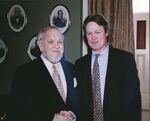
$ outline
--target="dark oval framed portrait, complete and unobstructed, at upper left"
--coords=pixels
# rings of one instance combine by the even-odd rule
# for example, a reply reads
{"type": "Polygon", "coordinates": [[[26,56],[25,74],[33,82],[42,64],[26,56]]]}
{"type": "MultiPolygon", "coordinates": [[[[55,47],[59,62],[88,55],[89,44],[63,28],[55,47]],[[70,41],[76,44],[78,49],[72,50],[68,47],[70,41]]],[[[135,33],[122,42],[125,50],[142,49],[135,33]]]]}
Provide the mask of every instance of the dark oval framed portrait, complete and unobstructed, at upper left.
{"type": "Polygon", "coordinates": [[[27,17],[23,7],[17,4],[10,8],[7,18],[8,24],[14,32],[20,32],[27,23],[27,17]]]}

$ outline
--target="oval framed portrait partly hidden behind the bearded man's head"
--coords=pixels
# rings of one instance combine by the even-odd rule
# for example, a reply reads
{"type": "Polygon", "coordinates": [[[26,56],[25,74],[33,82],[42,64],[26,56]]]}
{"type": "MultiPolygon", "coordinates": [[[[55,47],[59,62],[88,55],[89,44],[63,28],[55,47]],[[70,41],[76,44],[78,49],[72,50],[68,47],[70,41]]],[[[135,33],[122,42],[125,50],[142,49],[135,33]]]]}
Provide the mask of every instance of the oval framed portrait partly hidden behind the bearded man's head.
{"type": "Polygon", "coordinates": [[[28,45],[28,48],[27,48],[27,53],[28,53],[28,56],[31,60],[34,60],[36,59],[38,56],[40,56],[40,49],[37,45],[37,36],[34,36],[30,42],[29,42],[29,45],[28,45]]]}

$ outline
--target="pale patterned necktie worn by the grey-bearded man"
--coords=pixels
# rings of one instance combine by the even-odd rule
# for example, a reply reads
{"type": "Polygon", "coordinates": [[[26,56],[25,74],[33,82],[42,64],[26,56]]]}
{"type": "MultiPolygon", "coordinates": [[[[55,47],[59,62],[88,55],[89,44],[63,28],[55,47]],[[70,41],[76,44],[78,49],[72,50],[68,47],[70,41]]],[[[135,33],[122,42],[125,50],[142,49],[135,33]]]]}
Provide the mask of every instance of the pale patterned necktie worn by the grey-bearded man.
{"type": "Polygon", "coordinates": [[[62,99],[64,100],[64,102],[66,102],[66,99],[65,99],[65,92],[64,92],[64,89],[63,89],[63,85],[62,85],[62,82],[61,82],[61,79],[60,79],[60,75],[56,69],[56,66],[53,64],[53,79],[54,79],[54,83],[62,97],[62,99]]]}

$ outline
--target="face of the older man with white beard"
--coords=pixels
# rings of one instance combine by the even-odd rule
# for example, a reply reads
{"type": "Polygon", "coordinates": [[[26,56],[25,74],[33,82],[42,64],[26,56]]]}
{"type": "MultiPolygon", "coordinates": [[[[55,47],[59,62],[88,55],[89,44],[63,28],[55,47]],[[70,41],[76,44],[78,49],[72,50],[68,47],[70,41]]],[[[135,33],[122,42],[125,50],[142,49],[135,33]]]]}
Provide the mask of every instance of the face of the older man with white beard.
{"type": "Polygon", "coordinates": [[[42,40],[38,41],[42,55],[52,63],[60,61],[64,53],[64,43],[61,32],[49,29],[43,33],[42,40]]]}

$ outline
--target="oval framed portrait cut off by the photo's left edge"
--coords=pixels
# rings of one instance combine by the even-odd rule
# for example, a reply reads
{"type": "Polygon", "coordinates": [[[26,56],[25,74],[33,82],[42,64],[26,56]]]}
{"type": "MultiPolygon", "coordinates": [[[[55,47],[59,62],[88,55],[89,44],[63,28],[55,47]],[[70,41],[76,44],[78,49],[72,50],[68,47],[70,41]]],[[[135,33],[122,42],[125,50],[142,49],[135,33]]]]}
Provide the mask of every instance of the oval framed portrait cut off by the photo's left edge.
{"type": "Polygon", "coordinates": [[[8,48],[6,47],[3,40],[0,39],[0,63],[2,63],[5,60],[7,51],[8,51],[8,48]]]}

